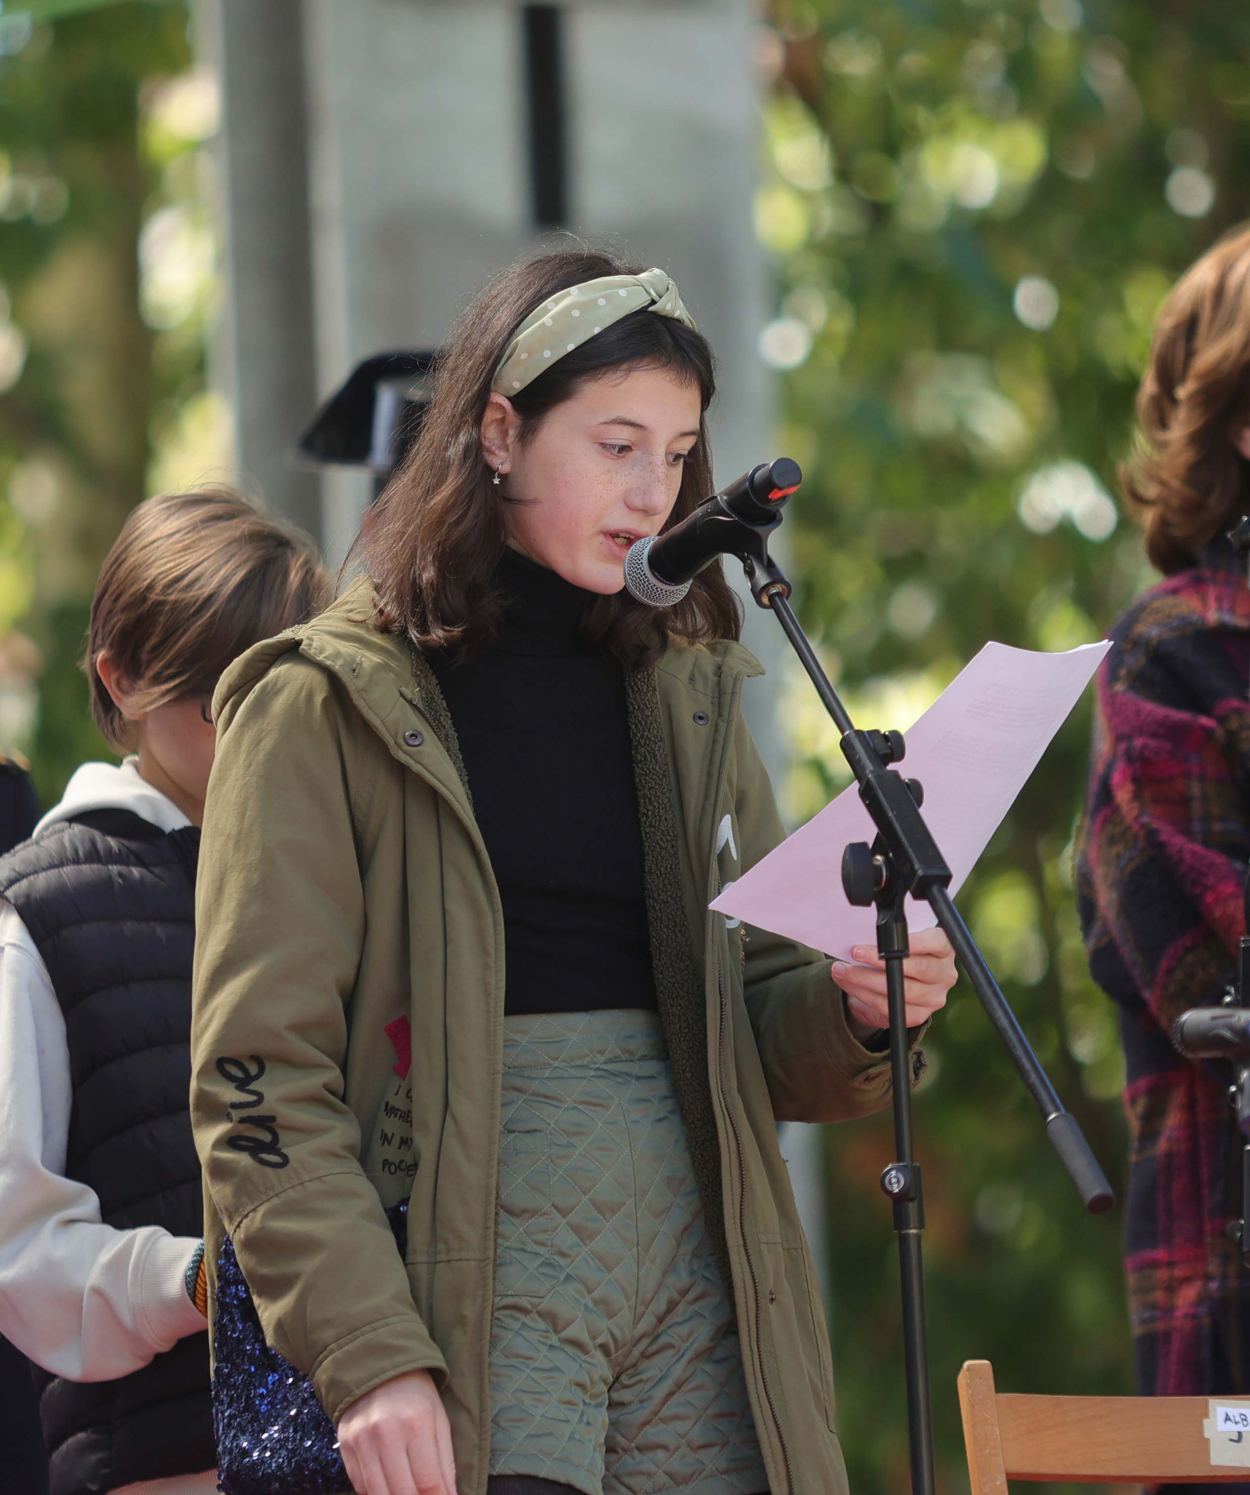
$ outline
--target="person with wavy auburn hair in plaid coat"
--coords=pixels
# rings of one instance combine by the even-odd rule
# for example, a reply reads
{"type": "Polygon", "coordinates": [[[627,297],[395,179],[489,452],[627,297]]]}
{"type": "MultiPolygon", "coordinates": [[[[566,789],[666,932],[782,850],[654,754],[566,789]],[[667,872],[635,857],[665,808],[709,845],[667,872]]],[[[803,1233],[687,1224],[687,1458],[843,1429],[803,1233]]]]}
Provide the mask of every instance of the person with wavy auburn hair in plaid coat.
{"type": "Polygon", "coordinates": [[[1250,510],[1250,232],[1163,305],[1123,469],[1163,580],[1115,623],[1080,855],[1090,969],[1118,1003],[1130,1129],[1126,1272],[1139,1389],[1250,1392],[1250,1271],[1228,1236],[1238,1139],[1225,1066],[1172,1021],[1219,1003],[1246,933],[1250,594],[1228,538],[1250,510]]]}

